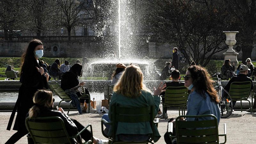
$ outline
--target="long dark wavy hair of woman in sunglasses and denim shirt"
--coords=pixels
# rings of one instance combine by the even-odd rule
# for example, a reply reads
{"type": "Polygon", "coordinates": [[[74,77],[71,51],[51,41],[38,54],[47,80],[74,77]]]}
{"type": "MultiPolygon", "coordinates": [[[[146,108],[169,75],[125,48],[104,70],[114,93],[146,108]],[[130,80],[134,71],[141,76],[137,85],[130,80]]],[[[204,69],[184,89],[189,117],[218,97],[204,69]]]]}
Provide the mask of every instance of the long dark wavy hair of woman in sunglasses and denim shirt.
{"type": "Polygon", "coordinates": [[[219,103],[217,92],[213,88],[209,73],[203,67],[196,65],[188,67],[188,71],[191,73],[195,91],[204,98],[206,97],[204,92],[207,92],[212,101],[219,103]]]}

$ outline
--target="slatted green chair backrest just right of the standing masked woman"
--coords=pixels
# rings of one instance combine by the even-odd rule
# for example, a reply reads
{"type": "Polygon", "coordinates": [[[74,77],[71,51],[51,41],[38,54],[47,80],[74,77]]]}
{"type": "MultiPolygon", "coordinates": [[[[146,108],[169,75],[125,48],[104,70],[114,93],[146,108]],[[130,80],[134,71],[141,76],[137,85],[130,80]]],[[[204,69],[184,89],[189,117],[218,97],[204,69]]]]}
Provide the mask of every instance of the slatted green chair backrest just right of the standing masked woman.
{"type": "Polygon", "coordinates": [[[55,92],[61,100],[69,101],[70,97],[60,88],[60,85],[57,82],[49,81],[48,82],[50,88],[53,92],[55,92]]]}

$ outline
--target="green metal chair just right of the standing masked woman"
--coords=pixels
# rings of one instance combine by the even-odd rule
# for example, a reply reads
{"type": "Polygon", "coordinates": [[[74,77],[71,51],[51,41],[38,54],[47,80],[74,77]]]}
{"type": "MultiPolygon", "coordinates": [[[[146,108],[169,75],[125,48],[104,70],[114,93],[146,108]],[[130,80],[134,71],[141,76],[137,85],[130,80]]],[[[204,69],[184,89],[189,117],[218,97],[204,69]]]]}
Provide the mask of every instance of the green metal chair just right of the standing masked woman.
{"type": "MultiPolygon", "coordinates": [[[[48,85],[49,85],[49,87],[52,89],[52,91],[55,92],[55,93],[60,97],[60,99],[61,99],[60,103],[61,103],[62,101],[65,101],[65,102],[70,102],[70,101],[72,101],[72,99],[71,99],[71,98],[69,97],[69,95],[66,93],[67,90],[66,90],[66,91],[63,91],[63,90],[60,88],[60,85],[59,85],[57,82],[55,82],[55,81],[49,81],[49,82],[48,82],[48,85]]],[[[81,87],[81,88],[83,89],[83,91],[84,91],[84,88],[83,88],[83,86],[81,86],[81,85],[77,85],[76,87],[73,87],[73,88],[69,89],[68,91],[76,90],[76,89],[78,89],[79,87],[81,87]]],[[[84,93],[85,93],[85,92],[84,92],[84,93]]],[[[90,97],[90,95],[88,95],[88,94],[83,94],[83,93],[81,93],[81,96],[78,97],[78,98],[85,98],[85,99],[89,99],[89,101],[91,101],[91,97],[90,97]]],[[[59,103],[58,107],[60,107],[60,103],[59,103]]],[[[69,110],[70,110],[70,106],[71,106],[71,102],[70,102],[70,105],[69,105],[69,107],[68,107],[68,113],[69,113],[69,110]]],[[[90,113],[90,102],[89,102],[89,110],[88,110],[88,113],[90,113]]]]}

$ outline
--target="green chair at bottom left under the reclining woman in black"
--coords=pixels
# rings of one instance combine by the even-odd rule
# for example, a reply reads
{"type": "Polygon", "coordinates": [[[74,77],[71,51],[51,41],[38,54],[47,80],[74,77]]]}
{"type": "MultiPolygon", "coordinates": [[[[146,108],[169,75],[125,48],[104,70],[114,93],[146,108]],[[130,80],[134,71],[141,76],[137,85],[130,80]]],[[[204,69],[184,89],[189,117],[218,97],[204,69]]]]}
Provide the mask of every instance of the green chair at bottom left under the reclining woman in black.
{"type": "Polygon", "coordinates": [[[29,132],[28,138],[32,138],[34,143],[70,143],[82,142],[80,134],[90,126],[91,140],[85,142],[92,144],[92,125],[88,124],[74,136],[69,136],[64,121],[59,116],[26,118],[26,128],[29,132]]]}

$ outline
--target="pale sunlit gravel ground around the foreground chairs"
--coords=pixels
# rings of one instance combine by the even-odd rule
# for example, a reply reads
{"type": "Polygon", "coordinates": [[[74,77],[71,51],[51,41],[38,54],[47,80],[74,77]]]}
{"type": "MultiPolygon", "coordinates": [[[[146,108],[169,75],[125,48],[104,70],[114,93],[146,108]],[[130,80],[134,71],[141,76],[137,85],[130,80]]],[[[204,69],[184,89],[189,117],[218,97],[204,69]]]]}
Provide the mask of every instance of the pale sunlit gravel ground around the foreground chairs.
{"type": "MultiPolygon", "coordinates": [[[[7,131],[7,123],[11,113],[10,112],[0,112],[0,144],[4,144],[13,133],[16,131],[7,131]]],[[[177,117],[179,115],[178,111],[168,111],[169,118],[177,117]]],[[[78,120],[80,123],[86,125],[91,123],[93,129],[93,135],[100,139],[106,139],[101,133],[100,120],[102,115],[92,113],[92,114],[83,114],[77,115],[76,111],[71,111],[69,116],[78,120]]],[[[223,125],[227,124],[227,143],[228,144],[250,144],[255,143],[255,128],[256,128],[256,113],[248,113],[246,111],[235,111],[229,118],[220,119],[219,124],[219,133],[224,133],[223,125]]],[[[161,134],[160,140],[156,144],[164,144],[163,135],[167,129],[167,121],[165,119],[160,119],[158,124],[158,131],[161,134]]],[[[224,139],[220,138],[220,142],[223,142],[224,139]]],[[[27,139],[24,136],[17,143],[26,144],[27,139]]]]}

